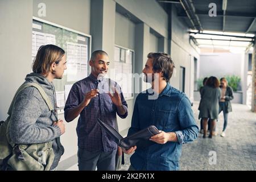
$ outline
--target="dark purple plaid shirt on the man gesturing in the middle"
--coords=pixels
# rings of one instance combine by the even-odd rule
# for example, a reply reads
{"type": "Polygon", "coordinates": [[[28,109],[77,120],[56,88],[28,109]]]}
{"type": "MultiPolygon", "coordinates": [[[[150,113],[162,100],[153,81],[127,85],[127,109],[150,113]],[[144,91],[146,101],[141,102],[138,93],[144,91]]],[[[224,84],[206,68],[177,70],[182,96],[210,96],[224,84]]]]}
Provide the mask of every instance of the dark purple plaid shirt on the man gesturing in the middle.
{"type": "Polygon", "coordinates": [[[96,119],[100,118],[109,126],[118,129],[117,116],[121,118],[127,117],[127,103],[123,97],[122,90],[117,82],[108,78],[102,77],[97,80],[92,74],[83,80],[77,81],[73,84],[71,91],[69,92],[67,102],[64,108],[64,115],[66,117],[67,111],[78,106],[85,97],[87,92],[92,89],[99,89],[98,96],[92,98],[89,104],[81,111],[79,121],[77,123],[76,132],[78,137],[78,146],[91,152],[104,151],[109,152],[117,148],[117,144],[113,138],[110,137],[104,129],[98,125],[96,119]],[[122,104],[126,109],[124,115],[117,113],[117,107],[113,104],[108,95],[110,85],[117,88],[121,95],[122,104]]]}

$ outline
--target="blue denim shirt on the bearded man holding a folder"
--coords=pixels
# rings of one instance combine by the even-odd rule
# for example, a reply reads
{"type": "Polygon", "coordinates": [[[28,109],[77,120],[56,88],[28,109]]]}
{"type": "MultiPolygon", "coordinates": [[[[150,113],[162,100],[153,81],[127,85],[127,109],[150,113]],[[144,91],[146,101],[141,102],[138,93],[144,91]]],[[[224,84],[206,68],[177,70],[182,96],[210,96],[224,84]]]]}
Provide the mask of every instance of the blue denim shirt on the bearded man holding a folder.
{"type": "Polygon", "coordinates": [[[164,132],[175,132],[178,142],[155,143],[135,150],[130,158],[131,166],[137,170],[178,170],[181,144],[197,138],[199,128],[195,123],[188,97],[167,84],[157,99],[148,100],[148,89],[140,93],[135,101],[133,118],[128,136],[150,125],[164,132]]]}

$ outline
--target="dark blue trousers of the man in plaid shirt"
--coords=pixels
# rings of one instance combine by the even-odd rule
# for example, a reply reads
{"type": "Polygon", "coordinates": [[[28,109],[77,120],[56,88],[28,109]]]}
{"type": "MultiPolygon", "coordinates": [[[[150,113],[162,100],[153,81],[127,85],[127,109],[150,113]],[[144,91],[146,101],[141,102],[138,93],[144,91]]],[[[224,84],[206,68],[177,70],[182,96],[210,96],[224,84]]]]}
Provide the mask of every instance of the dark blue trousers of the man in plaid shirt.
{"type": "Polygon", "coordinates": [[[77,152],[79,171],[115,171],[115,154],[117,150],[110,152],[90,152],[79,148],[77,152]]]}

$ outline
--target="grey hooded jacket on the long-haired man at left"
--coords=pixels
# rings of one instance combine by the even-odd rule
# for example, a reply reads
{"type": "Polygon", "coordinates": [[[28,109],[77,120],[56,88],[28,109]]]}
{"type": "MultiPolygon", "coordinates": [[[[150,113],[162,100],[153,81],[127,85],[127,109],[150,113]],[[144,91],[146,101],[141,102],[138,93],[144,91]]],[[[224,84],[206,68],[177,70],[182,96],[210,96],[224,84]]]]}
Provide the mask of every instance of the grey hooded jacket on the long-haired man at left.
{"type": "MultiPolygon", "coordinates": [[[[25,82],[39,84],[55,106],[55,89],[51,82],[38,73],[30,73],[25,82]]],[[[56,113],[57,116],[57,113],[56,113]]],[[[13,105],[10,119],[10,138],[16,144],[33,144],[53,141],[55,159],[51,169],[57,167],[64,148],[60,143],[60,128],[52,123],[57,118],[49,111],[38,89],[30,86],[22,90],[13,105]]]]}

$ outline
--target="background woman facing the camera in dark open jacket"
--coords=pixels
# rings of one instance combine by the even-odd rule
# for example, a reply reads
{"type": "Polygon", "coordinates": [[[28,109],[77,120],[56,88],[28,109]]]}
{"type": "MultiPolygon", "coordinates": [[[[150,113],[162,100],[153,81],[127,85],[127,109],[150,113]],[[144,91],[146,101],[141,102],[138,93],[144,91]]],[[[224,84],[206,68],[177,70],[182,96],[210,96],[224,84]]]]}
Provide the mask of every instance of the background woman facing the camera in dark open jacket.
{"type": "Polygon", "coordinates": [[[224,115],[224,127],[221,133],[221,137],[225,137],[225,130],[226,126],[228,125],[228,114],[229,112],[232,111],[231,107],[231,100],[233,100],[233,89],[228,86],[228,81],[226,78],[221,78],[220,79],[220,88],[221,88],[221,100],[220,100],[220,110],[219,114],[221,111],[223,111],[224,115]]]}

